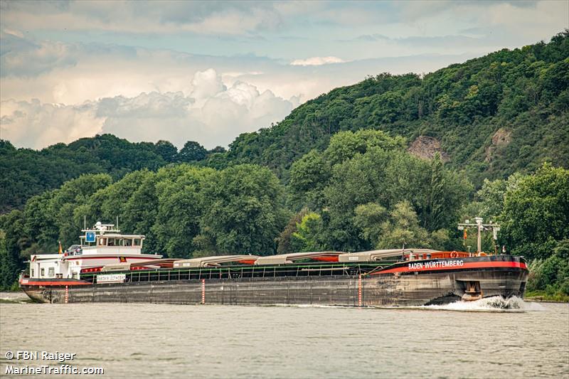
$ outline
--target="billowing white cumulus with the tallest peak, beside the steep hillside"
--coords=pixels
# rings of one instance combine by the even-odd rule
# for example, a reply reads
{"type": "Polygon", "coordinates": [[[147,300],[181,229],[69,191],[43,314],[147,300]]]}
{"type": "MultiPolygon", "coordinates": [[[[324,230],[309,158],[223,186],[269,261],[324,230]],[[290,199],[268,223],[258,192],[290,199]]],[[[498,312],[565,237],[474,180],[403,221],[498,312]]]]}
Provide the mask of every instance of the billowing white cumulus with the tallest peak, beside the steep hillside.
{"type": "Polygon", "coordinates": [[[228,87],[212,68],[198,71],[191,83],[188,96],[152,92],[101,100],[98,114],[107,117],[102,132],[132,141],[168,139],[177,146],[194,140],[213,148],[230,144],[240,133],[280,121],[293,108],[294,100],[260,92],[246,82],[228,87]],[[102,111],[103,102],[112,106],[102,111]]]}

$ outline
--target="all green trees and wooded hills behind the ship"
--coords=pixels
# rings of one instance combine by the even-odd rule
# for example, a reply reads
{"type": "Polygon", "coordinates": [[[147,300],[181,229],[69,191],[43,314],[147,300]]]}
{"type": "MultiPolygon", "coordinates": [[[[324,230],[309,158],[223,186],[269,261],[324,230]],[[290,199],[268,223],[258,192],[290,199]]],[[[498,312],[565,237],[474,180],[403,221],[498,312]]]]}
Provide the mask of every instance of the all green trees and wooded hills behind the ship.
{"type": "MultiPolygon", "coordinates": [[[[0,142],[0,287],[83,219],[166,257],[418,246],[467,250],[500,223],[528,291],[569,295],[569,33],[425,75],[337,88],[230,149],[105,134],[42,151],[0,142]]],[[[549,295],[548,295],[549,296],[549,295]]]]}

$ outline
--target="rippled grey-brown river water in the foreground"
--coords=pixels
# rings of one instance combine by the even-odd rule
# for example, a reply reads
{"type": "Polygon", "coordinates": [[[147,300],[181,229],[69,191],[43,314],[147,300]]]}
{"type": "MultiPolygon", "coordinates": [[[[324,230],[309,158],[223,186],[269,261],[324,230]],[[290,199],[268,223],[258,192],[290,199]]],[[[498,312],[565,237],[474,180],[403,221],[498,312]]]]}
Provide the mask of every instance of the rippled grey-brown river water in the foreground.
{"type": "Polygon", "coordinates": [[[0,376],[11,377],[8,365],[60,365],[7,351],[75,353],[65,363],[105,370],[87,378],[569,378],[569,304],[3,303],[0,376]]]}

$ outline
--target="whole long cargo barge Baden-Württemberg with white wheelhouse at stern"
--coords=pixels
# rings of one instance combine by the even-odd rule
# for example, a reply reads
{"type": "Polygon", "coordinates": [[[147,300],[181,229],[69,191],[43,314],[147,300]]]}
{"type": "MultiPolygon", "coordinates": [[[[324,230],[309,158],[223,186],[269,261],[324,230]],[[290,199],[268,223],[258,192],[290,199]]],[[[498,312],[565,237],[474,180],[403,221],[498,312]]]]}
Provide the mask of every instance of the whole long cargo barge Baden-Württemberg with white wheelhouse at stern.
{"type": "Polygon", "coordinates": [[[81,244],[32,255],[21,289],[40,303],[421,306],[523,297],[523,257],[393,249],[216,255],[142,253],[144,235],[113,224],[84,229],[81,244]]]}

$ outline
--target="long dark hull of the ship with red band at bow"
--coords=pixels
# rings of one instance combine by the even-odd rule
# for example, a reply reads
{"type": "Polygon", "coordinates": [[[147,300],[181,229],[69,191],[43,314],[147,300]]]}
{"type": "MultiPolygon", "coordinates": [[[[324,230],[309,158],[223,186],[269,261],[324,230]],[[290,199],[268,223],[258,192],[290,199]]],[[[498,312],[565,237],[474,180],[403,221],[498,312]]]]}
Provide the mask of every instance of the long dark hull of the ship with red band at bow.
{"type": "Polygon", "coordinates": [[[435,265],[434,269],[404,262],[355,275],[21,284],[21,288],[31,299],[46,303],[421,306],[482,297],[523,297],[528,277],[525,263],[517,257],[489,258],[447,260],[450,264],[435,265]],[[468,265],[472,267],[462,268],[468,265]]]}

